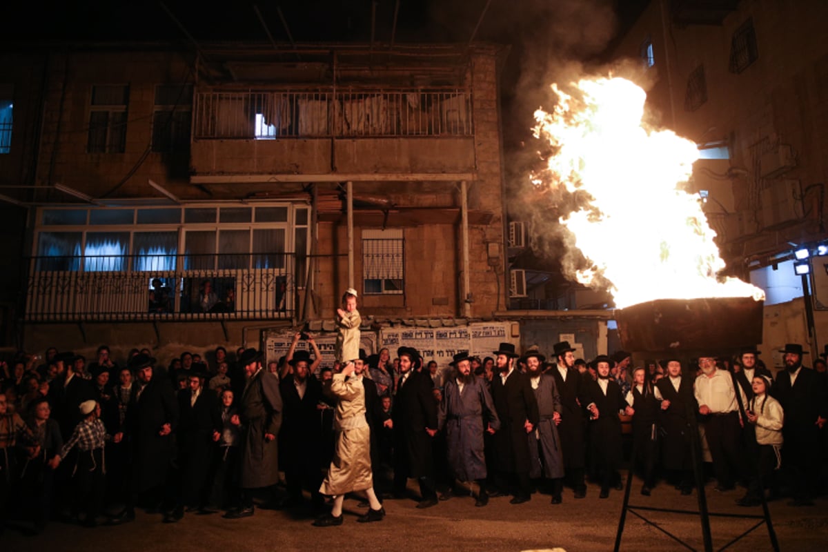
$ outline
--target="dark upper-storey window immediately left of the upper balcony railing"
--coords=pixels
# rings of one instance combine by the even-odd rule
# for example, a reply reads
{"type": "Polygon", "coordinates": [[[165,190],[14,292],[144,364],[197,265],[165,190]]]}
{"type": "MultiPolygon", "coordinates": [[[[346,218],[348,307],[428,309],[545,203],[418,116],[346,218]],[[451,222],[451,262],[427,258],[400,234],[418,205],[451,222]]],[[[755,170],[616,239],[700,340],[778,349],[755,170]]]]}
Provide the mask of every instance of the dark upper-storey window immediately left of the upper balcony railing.
{"type": "Polygon", "coordinates": [[[152,151],[189,151],[192,106],[192,84],[156,86],[155,111],[152,113],[152,151]]]}

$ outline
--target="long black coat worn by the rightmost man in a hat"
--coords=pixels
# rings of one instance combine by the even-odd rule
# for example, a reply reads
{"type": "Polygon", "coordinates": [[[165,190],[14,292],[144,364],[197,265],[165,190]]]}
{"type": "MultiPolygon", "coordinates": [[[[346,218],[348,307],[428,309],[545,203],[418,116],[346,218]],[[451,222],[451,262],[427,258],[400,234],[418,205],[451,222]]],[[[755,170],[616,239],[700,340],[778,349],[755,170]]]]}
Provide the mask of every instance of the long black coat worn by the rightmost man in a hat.
{"type": "Polygon", "coordinates": [[[807,460],[816,458],[821,431],[817,417],[828,418],[826,380],[808,367],[802,367],[791,385],[791,374],[782,370],[777,374],[774,394],[785,412],[782,435],[785,445],[782,454],[786,462],[810,466],[807,460]]]}

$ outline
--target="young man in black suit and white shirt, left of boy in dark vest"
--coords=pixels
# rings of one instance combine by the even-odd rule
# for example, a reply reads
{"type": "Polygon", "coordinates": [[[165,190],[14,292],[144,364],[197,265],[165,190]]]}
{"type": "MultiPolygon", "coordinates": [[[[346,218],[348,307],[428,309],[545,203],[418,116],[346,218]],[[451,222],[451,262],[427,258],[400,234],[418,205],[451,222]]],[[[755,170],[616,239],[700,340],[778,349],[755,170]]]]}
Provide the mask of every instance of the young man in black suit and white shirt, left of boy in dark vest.
{"type": "Polygon", "coordinates": [[[628,408],[621,387],[609,377],[613,360],[599,355],[592,362],[598,380],[589,382],[590,458],[601,482],[599,498],[609,497],[609,487],[619,481],[618,469],[623,460],[619,411],[628,408]]]}

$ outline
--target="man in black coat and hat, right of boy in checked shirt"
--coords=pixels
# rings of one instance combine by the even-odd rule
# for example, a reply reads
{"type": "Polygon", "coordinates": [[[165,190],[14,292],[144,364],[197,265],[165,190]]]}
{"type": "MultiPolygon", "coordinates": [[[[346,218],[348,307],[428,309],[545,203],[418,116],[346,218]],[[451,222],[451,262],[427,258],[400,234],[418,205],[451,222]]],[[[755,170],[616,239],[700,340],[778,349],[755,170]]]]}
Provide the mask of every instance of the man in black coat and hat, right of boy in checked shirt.
{"type": "MultiPolygon", "coordinates": [[[[137,498],[168,482],[168,473],[175,454],[173,432],[179,419],[178,401],[169,378],[155,377],[155,358],[137,354],[129,361],[136,374],[132,399],[124,419],[123,436],[128,439],[132,465],[129,473],[127,504],[113,521],[123,523],[135,519],[137,498]]],[[[171,489],[166,487],[167,502],[171,489]]]]}

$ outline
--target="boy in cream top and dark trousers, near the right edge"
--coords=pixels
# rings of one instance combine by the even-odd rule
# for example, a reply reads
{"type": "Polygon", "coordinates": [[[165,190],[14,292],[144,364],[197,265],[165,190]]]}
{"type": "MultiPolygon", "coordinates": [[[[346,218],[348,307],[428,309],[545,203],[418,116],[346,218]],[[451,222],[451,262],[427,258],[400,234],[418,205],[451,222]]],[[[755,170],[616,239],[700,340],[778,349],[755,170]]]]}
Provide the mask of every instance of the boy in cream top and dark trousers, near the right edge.
{"type": "Polygon", "coordinates": [[[748,492],[736,501],[739,506],[762,504],[763,487],[770,487],[771,497],[778,495],[776,472],[779,469],[782,449],[782,423],[784,412],[779,401],[768,395],[770,378],[756,375],[751,382],[753,398],[748,402],[748,421],[755,427],[756,447],[750,450],[749,461],[756,462],[757,474],[750,478],[748,492]],[[761,482],[760,482],[761,481],[761,482]]]}

